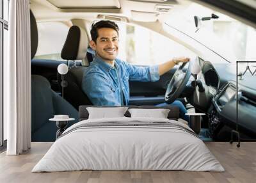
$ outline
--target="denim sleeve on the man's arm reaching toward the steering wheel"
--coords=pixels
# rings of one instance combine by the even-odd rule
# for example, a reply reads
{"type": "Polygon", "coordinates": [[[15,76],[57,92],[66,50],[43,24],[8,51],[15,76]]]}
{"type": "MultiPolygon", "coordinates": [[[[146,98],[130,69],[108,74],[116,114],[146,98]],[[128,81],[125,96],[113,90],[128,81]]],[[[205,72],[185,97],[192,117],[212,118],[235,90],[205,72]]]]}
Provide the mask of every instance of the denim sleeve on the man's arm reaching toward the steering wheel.
{"type": "Polygon", "coordinates": [[[125,63],[131,81],[158,81],[159,70],[158,65],[140,67],[125,63]]]}

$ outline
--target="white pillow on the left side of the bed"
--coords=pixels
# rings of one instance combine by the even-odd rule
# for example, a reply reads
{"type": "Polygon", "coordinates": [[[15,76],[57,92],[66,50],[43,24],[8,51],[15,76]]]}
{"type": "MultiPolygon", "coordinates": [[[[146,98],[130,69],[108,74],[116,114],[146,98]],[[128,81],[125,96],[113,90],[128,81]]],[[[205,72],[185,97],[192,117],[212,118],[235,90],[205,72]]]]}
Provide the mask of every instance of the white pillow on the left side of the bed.
{"type": "Polygon", "coordinates": [[[86,107],[89,117],[96,118],[120,118],[125,117],[124,114],[128,107],[86,107]]]}

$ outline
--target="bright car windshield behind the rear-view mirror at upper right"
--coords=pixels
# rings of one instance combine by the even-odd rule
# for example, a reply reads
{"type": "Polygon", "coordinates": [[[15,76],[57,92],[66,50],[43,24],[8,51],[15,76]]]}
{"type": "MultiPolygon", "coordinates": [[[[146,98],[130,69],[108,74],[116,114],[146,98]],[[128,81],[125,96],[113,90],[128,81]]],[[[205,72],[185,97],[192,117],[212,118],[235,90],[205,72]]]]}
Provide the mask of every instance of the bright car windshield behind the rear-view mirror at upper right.
{"type": "Polygon", "coordinates": [[[256,42],[255,29],[200,4],[188,3],[171,11],[165,24],[179,29],[229,62],[256,60],[253,48],[256,42]],[[209,19],[212,13],[218,18],[202,20],[209,19]],[[197,28],[195,16],[198,17],[197,28]]]}

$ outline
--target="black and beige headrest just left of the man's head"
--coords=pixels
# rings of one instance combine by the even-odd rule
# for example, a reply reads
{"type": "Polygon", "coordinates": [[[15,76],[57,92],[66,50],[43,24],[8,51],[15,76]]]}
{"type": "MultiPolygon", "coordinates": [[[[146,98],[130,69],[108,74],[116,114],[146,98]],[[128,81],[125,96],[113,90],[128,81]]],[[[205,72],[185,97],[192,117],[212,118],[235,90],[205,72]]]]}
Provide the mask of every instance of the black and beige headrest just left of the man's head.
{"type": "Polygon", "coordinates": [[[86,57],[88,36],[79,26],[72,26],[61,51],[63,60],[83,60],[86,57]]]}

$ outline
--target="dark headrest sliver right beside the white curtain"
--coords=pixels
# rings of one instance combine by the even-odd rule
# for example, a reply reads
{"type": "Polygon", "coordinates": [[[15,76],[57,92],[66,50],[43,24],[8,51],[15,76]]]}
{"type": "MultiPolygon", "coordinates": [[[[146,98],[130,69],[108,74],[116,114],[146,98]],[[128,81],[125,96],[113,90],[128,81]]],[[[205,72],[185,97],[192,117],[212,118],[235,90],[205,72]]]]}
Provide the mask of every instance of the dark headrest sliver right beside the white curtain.
{"type": "Polygon", "coordinates": [[[38,46],[38,32],[36,19],[30,10],[30,44],[31,44],[31,59],[34,58],[38,46]]]}

